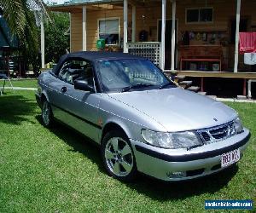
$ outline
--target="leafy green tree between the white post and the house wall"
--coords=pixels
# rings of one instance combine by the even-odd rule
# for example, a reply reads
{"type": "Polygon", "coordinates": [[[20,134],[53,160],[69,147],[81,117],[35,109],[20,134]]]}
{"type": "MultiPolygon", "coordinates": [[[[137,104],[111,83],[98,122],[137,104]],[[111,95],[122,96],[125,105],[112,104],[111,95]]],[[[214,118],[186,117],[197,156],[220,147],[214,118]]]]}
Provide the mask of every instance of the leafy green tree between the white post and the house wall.
{"type": "Polygon", "coordinates": [[[69,47],[69,37],[65,35],[69,27],[68,14],[54,12],[49,15],[52,21],[44,25],[46,63],[58,62],[69,47]]]}

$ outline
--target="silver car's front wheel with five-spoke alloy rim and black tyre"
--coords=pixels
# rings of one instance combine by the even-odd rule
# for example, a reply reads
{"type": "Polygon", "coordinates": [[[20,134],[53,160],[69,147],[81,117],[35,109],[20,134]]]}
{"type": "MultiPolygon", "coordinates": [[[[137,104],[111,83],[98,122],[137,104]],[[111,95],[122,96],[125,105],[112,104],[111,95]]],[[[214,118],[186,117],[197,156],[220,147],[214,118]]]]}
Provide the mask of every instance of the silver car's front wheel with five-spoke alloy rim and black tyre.
{"type": "Polygon", "coordinates": [[[110,131],[102,140],[102,159],[108,175],[119,181],[132,181],[137,166],[131,143],[125,133],[110,131]]]}

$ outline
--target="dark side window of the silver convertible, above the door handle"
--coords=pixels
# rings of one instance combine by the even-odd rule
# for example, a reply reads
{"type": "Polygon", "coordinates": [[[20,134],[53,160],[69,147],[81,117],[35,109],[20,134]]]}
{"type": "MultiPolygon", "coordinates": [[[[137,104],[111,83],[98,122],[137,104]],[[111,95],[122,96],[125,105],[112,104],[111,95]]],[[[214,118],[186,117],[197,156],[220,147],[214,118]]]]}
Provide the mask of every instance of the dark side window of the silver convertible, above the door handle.
{"type": "Polygon", "coordinates": [[[75,80],[87,81],[94,85],[93,66],[86,60],[69,60],[63,64],[59,77],[67,83],[73,84],[75,80]]]}

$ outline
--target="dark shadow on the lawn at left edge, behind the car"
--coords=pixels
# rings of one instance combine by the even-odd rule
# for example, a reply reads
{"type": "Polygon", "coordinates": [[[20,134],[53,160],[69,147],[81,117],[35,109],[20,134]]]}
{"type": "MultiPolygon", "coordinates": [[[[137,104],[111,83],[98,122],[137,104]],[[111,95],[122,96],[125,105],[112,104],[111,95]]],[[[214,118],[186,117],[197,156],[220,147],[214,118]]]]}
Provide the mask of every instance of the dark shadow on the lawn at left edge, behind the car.
{"type": "Polygon", "coordinates": [[[6,124],[20,124],[23,121],[32,122],[26,116],[36,111],[36,101],[27,99],[23,95],[3,95],[0,97],[0,122],[6,124]]]}

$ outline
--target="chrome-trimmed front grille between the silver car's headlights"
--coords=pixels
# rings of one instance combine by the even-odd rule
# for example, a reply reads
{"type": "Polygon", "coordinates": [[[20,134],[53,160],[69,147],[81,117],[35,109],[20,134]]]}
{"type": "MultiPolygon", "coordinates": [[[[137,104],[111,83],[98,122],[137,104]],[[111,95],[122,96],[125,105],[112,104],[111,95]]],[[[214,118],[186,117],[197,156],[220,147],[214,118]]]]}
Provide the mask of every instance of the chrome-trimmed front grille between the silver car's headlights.
{"type": "Polygon", "coordinates": [[[234,127],[234,122],[230,122],[228,124],[220,125],[217,127],[199,130],[198,133],[204,143],[212,143],[225,140],[230,136],[235,135],[236,130],[234,127]]]}

